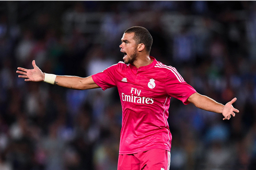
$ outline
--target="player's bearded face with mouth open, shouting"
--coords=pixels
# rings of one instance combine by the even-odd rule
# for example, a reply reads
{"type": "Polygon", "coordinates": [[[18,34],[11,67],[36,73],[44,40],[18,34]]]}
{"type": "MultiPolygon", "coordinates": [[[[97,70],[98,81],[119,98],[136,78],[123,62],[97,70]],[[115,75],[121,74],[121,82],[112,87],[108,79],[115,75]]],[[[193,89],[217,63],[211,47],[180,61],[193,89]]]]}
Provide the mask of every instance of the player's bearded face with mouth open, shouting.
{"type": "Polygon", "coordinates": [[[138,55],[137,44],[133,39],[134,33],[124,33],[121,39],[122,44],[119,46],[121,52],[124,53],[124,63],[133,63],[138,55]]]}

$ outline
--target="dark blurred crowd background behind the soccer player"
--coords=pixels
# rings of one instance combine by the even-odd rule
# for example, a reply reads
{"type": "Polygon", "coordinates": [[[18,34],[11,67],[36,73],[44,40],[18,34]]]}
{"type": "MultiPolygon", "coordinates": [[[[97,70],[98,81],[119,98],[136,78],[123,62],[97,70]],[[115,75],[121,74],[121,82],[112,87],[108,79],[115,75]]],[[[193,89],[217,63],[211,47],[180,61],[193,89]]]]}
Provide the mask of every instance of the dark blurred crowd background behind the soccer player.
{"type": "Polygon", "coordinates": [[[170,169],[256,169],[256,2],[0,2],[0,169],[117,169],[117,88],[72,90],[19,79],[17,67],[89,76],[122,61],[123,32],[153,36],[150,53],[236,117],[172,98],[170,169]]]}

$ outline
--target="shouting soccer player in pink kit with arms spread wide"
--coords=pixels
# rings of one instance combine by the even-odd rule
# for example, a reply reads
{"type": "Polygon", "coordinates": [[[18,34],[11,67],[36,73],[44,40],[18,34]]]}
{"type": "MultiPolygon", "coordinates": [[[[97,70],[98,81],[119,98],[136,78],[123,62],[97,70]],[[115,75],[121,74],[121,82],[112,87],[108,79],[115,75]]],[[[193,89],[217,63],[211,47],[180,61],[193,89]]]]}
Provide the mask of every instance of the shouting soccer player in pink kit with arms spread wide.
{"type": "Polygon", "coordinates": [[[127,29],[121,39],[123,60],[101,73],[85,78],[43,73],[32,61],[33,69],[18,68],[18,77],[25,81],[44,81],[72,89],[103,90],[117,87],[122,104],[122,129],[118,170],[159,169],[170,167],[171,133],[167,118],[171,97],[184,104],[222,113],[229,120],[239,112],[226,105],[200,95],[187,84],[178,71],[149,56],[153,38],[143,27],[127,29]]]}

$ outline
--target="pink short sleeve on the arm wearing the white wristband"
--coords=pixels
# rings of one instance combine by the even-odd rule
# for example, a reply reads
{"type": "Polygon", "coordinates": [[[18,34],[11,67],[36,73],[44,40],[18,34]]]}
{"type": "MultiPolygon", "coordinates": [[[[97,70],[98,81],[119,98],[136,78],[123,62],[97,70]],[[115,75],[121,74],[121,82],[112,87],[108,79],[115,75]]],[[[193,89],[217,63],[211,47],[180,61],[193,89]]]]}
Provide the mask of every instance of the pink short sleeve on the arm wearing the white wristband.
{"type": "Polygon", "coordinates": [[[92,75],[94,82],[100,86],[103,90],[117,86],[115,83],[115,72],[117,70],[117,64],[110,66],[104,71],[92,75]]]}

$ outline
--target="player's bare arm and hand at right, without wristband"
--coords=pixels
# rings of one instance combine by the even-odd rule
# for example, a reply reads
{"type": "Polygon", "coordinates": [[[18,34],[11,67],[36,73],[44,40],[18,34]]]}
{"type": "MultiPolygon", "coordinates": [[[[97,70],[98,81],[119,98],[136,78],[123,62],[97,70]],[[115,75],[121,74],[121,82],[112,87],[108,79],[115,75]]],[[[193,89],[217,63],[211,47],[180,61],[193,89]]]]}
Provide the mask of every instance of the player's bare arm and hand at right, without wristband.
{"type": "Polygon", "coordinates": [[[239,110],[232,106],[232,103],[234,103],[236,100],[237,98],[234,98],[227,102],[224,106],[223,104],[216,102],[210,97],[200,95],[199,93],[194,93],[188,98],[188,101],[193,103],[197,108],[211,112],[222,113],[224,116],[223,120],[229,120],[231,115],[235,116],[235,112],[239,112],[239,110]]]}

